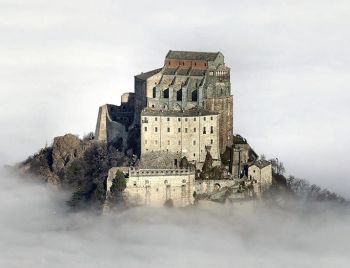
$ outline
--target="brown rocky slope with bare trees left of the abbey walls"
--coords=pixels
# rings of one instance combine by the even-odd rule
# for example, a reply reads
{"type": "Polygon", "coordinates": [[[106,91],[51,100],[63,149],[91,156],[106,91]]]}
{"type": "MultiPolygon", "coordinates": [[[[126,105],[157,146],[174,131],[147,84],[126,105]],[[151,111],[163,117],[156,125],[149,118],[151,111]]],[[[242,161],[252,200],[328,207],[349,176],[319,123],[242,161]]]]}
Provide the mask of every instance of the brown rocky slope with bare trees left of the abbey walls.
{"type": "Polygon", "coordinates": [[[69,204],[73,207],[98,204],[105,197],[105,181],[113,166],[137,162],[122,142],[96,142],[93,136],[83,140],[72,134],[56,137],[50,147],[41,149],[18,165],[24,176],[33,175],[50,184],[73,189],[69,204]]]}

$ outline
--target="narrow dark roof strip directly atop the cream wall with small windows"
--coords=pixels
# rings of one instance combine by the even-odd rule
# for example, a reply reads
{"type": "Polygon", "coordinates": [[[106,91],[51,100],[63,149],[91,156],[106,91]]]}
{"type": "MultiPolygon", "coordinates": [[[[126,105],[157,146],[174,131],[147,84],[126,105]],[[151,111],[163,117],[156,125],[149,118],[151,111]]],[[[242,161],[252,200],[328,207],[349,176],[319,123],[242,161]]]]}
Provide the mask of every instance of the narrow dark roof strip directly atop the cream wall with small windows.
{"type": "Polygon", "coordinates": [[[204,110],[204,109],[198,109],[193,108],[189,110],[183,110],[183,111],[176,111],[176,110],[155,110],[152,108],[145,108],[141,115],[143,116],[174,116],[174,117],[190,117],[190,116],[207,116],[207,115],[218,115],[218,113],[204,110]]]}

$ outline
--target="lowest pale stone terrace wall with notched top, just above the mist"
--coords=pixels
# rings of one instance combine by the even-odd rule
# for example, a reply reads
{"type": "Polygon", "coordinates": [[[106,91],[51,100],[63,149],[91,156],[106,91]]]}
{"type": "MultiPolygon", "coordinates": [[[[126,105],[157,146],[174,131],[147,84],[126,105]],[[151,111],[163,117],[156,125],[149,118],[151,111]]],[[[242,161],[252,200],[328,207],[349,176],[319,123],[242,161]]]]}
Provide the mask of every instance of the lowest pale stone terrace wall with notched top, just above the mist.
{"type": "Polygon", "coordinates": [[[171,199],[185,207],[194,201],[194,179],[194,171],[182,169],[130,169],[123,195],[133,205],[162,207],[171,199]]]}

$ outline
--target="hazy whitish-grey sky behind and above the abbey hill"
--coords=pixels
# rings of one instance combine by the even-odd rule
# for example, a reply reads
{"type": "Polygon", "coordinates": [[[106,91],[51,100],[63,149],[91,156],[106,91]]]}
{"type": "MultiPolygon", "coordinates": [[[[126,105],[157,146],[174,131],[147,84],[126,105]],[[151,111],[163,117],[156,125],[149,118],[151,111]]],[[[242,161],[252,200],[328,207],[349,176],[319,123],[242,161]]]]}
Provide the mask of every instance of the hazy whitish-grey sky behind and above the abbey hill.
{"type": "Polygon", "coordinates": [[[221,51],[234,131],[350,196],[348,0],[0,0],[0,163],[95,129],[169,49],[221,51]]]}

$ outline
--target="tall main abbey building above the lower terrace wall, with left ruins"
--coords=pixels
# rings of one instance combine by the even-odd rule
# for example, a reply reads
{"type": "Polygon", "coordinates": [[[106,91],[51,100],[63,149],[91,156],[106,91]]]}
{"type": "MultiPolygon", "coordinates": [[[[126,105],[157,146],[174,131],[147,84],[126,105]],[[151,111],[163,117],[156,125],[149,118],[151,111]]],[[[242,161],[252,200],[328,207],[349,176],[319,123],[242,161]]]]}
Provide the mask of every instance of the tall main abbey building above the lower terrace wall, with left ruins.
{"type": "Polygon", "coordinates": [[[170,50],[162,68],[135,76],[135,92],[121,105],[100,107],[96,139],[124,144],[139,137],[141,160],[186,156],[201,163],[209,150],[219,161],[233,135],[230,68],[221,52],[170,50]]]}

